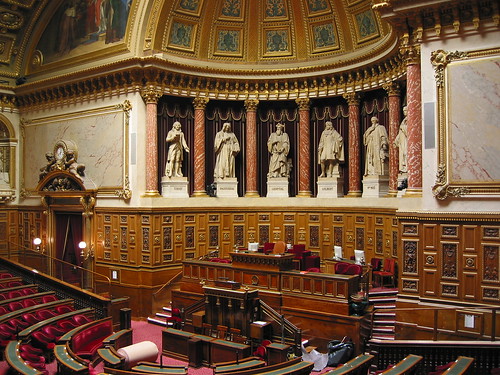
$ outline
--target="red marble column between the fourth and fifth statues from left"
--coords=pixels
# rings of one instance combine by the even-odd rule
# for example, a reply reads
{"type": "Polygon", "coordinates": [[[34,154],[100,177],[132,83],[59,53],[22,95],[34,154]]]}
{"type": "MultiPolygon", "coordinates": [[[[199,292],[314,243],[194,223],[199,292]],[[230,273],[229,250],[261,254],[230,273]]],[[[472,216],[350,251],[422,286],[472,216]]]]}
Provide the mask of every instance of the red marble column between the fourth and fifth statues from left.
{"type": "Polygon", "coordinates": [[[349,105],[349,191],[347,197],[361,197],[361,124],[359,94],[344,94],[349,105]]]}

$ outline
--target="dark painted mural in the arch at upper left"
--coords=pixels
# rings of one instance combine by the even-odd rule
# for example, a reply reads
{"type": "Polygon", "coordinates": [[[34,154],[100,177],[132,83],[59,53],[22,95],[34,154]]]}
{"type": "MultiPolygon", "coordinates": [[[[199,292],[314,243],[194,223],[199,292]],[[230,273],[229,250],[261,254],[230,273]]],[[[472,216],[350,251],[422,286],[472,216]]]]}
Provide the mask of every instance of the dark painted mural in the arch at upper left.
{"type": "Polygon", "coordinates": [[[131,3],[132,0],[65,0],[38,42],[43,63],[122,41],[131,3]]]}

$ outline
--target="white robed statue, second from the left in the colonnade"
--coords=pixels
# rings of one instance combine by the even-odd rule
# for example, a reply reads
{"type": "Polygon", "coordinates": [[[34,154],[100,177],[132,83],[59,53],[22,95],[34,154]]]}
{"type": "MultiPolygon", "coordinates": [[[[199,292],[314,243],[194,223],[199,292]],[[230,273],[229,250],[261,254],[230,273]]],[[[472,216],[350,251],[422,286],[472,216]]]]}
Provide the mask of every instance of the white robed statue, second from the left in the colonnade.
{"type": "Polygon", "coordinates": [[[225,122],[215,135],[214,150],[216,155],[214,178],[235,177],[235,156],[240,152],[240,143],[231,130],[231,124],[225,122]]]}

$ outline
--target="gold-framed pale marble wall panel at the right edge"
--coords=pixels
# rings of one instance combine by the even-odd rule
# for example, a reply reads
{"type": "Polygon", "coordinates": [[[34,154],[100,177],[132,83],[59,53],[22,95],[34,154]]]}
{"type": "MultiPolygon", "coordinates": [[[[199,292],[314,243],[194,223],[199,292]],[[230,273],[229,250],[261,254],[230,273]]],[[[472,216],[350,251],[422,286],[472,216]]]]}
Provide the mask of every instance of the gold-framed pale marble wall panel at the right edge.
{"type": "Polygon", "coordinates": [[[431,54],[437,89],[439,200],[500,194],[500,49],[431,54]],[[484,77],[487,77],[485,79],[484,77]],[[493,105],[492,105],[493,103],[493,105]],[[477,124],[477,125],[476,125],[477,124]]]}

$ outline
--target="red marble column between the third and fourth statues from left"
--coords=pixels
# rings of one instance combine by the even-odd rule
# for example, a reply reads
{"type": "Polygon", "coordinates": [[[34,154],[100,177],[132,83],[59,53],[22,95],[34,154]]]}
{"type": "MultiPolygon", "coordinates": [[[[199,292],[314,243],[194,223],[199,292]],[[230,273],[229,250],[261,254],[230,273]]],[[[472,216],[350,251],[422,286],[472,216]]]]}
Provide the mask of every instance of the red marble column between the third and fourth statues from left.
{"type": "Polygon", "coordinates": [[[299,192],[298,197],[311,196],[311,123],[310,101],[306,98],[296,100],[299,106],[299,192]]]}

